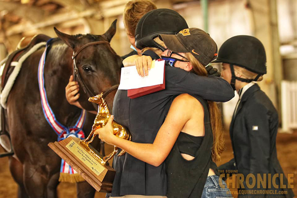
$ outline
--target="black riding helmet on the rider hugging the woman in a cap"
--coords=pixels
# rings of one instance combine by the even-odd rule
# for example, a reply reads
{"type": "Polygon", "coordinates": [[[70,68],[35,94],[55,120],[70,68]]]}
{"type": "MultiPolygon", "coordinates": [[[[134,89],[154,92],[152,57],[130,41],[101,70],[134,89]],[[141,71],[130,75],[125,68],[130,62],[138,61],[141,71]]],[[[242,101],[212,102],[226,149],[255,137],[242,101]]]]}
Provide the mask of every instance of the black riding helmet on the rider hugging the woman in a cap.
{"type": "Polygon", "coordinates": [[[172,9],[154,9],[145,14],[135,29],[135,45],[138,49],[146,47],[165,49],[153,41],[159,34],[176,34],[189,28],[186,20],[172,9]]]}

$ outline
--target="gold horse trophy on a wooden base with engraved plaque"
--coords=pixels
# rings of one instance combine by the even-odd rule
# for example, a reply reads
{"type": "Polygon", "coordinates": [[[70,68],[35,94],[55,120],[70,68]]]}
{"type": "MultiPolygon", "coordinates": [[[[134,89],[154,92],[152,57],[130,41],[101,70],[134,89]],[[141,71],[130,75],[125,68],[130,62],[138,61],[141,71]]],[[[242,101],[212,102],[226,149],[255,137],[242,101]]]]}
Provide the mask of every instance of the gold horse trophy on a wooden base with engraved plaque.
{"type": "MultiPolygon", "coordinates": [[[[90,102],[95,102],[99,105],[90,135],[84,140],[68,137],[60,142],[49,143],[49,147],[97,191],[110,193],[115,170],[106,165],[106,162],[116,154],[118,148],[114,147],[110,154],[101,156],[97,150],[89,146],[96,137],[95,130],[104,127],[110,118],[110,112],[106,101],[102,98],[102,94],[89,98],[90,102]]],[[[112,127],[115,136],[131,140],[130,132],[124,126],[113,121],[112,127]]],[[[118,155],[121,156],[125,152],[125,150],[122,150],[118,155]]]]}

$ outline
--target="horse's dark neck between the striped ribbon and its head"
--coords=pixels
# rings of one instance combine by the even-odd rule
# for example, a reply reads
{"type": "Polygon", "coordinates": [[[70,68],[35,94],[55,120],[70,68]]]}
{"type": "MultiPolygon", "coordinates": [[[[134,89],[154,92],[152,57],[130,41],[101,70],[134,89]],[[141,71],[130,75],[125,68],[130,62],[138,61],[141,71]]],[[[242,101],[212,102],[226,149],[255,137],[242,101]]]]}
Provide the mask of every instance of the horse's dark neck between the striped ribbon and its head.
{"type": "Polygon", "coordinates": [[[59,122],[75,124],[81,110],[70,105],[65,98],[65,87],[72,74],[72,49],[61,41],[54,41],[45,63],[45,88],[49,104],[59,122]],[[57,102],[59,101],[59,102],[57,102]]]}

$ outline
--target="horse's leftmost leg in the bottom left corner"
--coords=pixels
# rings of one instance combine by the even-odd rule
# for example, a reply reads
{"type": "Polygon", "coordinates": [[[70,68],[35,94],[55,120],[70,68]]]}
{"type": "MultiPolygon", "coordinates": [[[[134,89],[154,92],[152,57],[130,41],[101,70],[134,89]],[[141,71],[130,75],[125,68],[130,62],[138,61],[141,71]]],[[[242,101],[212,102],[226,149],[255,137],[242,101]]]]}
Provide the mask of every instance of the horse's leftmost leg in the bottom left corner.
{"type": "Polygon", "coordinates": [[[18,184],[18,198],[29,198],[23,184],[23,165],[14,157],[9,157],[9,169],[14,181],[18,184]]]}

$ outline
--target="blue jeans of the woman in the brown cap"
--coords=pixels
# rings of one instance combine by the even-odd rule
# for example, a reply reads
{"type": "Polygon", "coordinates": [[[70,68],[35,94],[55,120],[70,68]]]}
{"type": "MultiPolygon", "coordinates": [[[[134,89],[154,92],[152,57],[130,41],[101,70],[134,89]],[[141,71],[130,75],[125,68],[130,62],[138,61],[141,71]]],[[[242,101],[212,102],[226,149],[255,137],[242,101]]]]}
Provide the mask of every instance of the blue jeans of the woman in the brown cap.
{"type": "Polygon", "coordinates": [[[217,175],[207,177],[201,198],[233,198],[224,180],[219,184],[217,175]],[[225,188],[222,188],[222,187],[225,188]]]}

